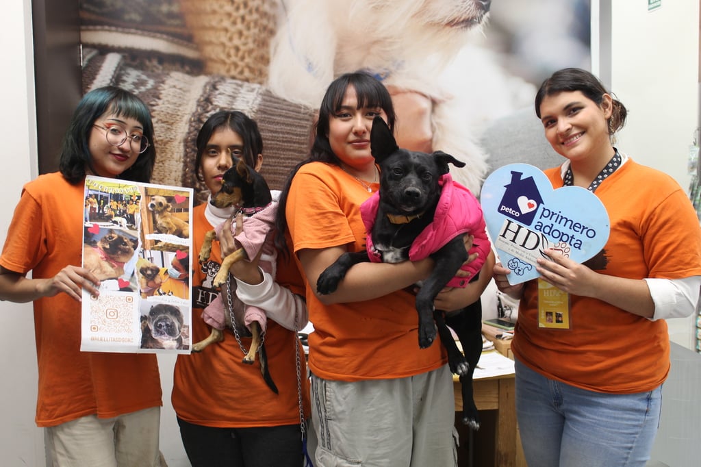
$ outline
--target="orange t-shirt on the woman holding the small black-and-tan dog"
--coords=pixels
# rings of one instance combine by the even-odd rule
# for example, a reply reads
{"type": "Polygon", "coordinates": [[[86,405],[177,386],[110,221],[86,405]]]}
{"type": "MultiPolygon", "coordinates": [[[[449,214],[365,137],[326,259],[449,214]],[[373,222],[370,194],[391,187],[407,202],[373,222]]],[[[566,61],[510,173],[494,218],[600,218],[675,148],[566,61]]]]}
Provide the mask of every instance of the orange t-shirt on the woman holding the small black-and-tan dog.
{"type": "MultiPolygon", "coordinates": [[[[205,217],[206,205],[193,210],[193,254],[198,255],[205,232],[214,229],[205,217]]],[[[284,262],[278,255],[277,282],[301,294],[301,276],[294,262],[284,262]]],[[[212,288],[221,264],[219,242],[212,243],[212,254],[205,264],[193,262],[192,271],[192,342],[210,335],[210,327],[202,320],[202,310],[217,296],[212,288]]],[[[235,284],[235,283],[234,283],[235,284]]],[[[236,299],[236,297],[234,297],[236,299]]],[[[251,338],[241,343],[250,347],[251,338]]],[[[299,424],[299,395],[297,391],[297,356],[300,360],[301,393],[305,415],[309,414],[309,384],[306,378],[304,350],[297,333],[268,319],[265,334],[268,369],[278,387],[273,393],[265,384],[260,360],[253,365],[242,362],[236,337],[224,330],[224,341],[210,344],[200,353],[179,355],[173,376],[172,405],[177,416],[191,424],[217,428],[244,428],[299,424]],[[295,351],[297,349],[297,355],[295,351]]]]}

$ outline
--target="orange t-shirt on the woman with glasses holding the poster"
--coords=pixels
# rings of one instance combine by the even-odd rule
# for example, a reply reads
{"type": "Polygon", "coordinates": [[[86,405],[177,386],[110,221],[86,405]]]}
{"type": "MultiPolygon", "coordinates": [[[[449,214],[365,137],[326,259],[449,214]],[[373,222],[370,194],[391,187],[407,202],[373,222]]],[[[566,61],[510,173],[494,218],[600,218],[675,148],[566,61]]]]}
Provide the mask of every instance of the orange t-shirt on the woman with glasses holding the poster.
{"type": "MultiPolygon", "coordinates": [[[[22,190],[0,256],[10,271],[51,278],[80,266],[83,184],[60,173],[41,175],[22,190]]],[[[36,424],[55,426],[90,414],[116,417],[161,406],[153,354],[81,352],[81,304],[64,293],[34,301],[39,397],[36,424]]]]}

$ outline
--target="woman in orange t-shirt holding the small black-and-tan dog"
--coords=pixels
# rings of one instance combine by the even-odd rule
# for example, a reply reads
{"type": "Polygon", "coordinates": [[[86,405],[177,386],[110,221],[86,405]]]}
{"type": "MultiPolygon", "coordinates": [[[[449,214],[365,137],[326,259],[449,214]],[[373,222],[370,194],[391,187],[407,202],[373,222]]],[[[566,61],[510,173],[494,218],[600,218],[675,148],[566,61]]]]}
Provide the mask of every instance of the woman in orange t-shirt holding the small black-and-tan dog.
{"type": "MultiPolygon", "coordinates": [[[[240,111],[219,111],[198,133],[198,178],[216,194],[226,170],[240,159],[259,170],[262,154],[263,141],[255,121],[240,111]]],[[[196,206],[194,251],[200,251],[207,231],[234,214],[233,206],[215,208],[209,202],[196,206]]],[[[210,334],[200,314],[219,293],[212,280],[222,257],[235,249],[227,225],[219,242],[212,243],[210,259],[191,275],[193,341],[210,334]]],[[[241,346],[250,346],[250,337],[225,332],[224,341],[207,346],[201,353],[178,356],[172,405],[185,451],[194,467],[299,467],[303,454],[301,420],[308,417],[309,388],[304,349],[295,332],[308,322],[299,271],[293,262],[278,257],[275,280],[259,268],[258,259],[236,262],[230,273],[236,279],[231,281],[236,290],[232,299],[264,309],[269,318],[264,345],[278,394],[266,386],[260,358],[253,365],[242,361],[245,352],[241,346]]]]}

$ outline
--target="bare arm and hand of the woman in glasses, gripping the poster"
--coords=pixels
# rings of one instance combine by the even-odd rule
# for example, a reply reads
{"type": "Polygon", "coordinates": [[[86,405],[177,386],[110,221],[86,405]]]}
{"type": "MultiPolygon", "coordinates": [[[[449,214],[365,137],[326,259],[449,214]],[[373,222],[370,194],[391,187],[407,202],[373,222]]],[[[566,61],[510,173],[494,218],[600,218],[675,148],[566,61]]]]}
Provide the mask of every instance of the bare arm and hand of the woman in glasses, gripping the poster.
{"type": "Polygon", "coordinates": [[[100,287],[100,280],[88,269],[78,266],[66,266],[53,278],[47,279],[28,279],[0,266],[0,300],[24,303],[65,292],[80,302],[81,289],[85,288],[91,295],[99,295],[97,287],[100,287]]]}

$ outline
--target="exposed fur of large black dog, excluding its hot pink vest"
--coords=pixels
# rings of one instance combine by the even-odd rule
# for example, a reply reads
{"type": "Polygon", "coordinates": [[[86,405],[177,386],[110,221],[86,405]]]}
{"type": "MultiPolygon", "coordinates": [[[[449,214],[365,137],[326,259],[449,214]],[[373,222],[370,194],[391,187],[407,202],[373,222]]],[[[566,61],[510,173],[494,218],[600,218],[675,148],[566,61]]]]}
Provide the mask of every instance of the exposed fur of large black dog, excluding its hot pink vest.
{"type": "MultiPolygon", "coordinates": [[[[426,154],[400,149],[390,129],[380,117],[375,117],[373,121],[370,144],[372,156],[381,168],[380,202],[372,229],[372,241],[374,247],[381,252],[383,262],[407,261],[411,243],[433,222],[440,198],[438,179],[449,171],[449,163],[457,167],[463,167],[465,164],[442,151],[426,154]],[[406,216],[409,219],[418,217],[407,223],[394,224],[390,222],[388,214],[406,216]]],[[[463,423],[477,429],[479,417],[472,395],[472,373],[482,353],[482,305],[478,300],[465,309],[447,313],[445,316],[443,311],[435,310],[433,305],[438,292],[468,259],[463,236],[451,239],[430,257],[435,261],[435,268],[416,294],[418,345],[426,348],[435,340],[436,332],[440,334],[441,341],[448,351],[450,370],[460,375],[463,423]],[[458,335],[464,356],[447,325],[458,335]]],[[[353,264],[367,261],[367,250],[344,253],[319,276],[317,291],[320,294],[334,292],[353,264]]]]}

